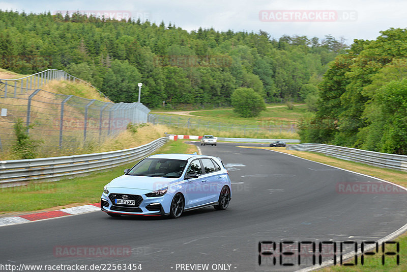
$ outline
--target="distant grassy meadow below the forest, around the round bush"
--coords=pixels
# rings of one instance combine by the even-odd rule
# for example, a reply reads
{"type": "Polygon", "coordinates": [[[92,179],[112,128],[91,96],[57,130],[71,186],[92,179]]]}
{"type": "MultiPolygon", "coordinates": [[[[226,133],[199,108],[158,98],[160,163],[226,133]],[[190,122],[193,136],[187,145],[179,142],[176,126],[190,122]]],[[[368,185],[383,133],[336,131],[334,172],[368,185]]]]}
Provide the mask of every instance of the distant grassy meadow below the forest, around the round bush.
{"type": "MultiPolygon", "coordinates": [[[[277,104],[267,108],[259,117],[243,118],[232,109],[192,112],[191,115],[157,113],[156,123],[169,125],[168,133],[204,135],[230,138],[269,138],[299,139],[296,125],[308,115],[306,105],[294,106],[288,110],[285,105],[277,104]],[[275,107],[277,106],[277,107],[275,107]],[[189,122],[189,127],[187,123],[189,122]]],[[[154,114],[154,112],[153,112],[154,114]]]]}

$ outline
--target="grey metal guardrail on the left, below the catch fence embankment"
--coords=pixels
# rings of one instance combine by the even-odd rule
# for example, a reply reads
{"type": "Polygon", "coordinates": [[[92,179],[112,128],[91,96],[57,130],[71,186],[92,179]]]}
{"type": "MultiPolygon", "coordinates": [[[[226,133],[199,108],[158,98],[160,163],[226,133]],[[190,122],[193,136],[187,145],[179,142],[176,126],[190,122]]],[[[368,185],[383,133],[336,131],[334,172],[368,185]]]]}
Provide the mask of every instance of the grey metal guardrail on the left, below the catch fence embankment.
{"type": "Polygon", "coordinates": [[[22,185],[28,181],[47,179],[60,180],[78,174],[109,169],[143,158],[168,141],[159,138],[149,144],[102,153],[64,157],[18,159],[0,161],[0,187],[22,185]]]}

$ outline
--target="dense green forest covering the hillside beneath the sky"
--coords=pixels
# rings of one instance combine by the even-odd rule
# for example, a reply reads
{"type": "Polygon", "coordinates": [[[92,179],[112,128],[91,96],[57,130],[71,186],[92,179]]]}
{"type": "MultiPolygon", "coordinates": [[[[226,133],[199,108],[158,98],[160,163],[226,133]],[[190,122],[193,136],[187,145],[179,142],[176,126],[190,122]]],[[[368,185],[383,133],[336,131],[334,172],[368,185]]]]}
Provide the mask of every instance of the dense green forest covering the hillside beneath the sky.
{"type": "Polygon", "coordinates": [[[21,74],[66,70],[114,102],[157,107],[230,105],[238,88],[266,102],[306,101],[315,108],[317,86],[347,45],[259,30],[188,32],[175,24],[114,20],[75,13],[0,11],[0,67],[21,74]]]}

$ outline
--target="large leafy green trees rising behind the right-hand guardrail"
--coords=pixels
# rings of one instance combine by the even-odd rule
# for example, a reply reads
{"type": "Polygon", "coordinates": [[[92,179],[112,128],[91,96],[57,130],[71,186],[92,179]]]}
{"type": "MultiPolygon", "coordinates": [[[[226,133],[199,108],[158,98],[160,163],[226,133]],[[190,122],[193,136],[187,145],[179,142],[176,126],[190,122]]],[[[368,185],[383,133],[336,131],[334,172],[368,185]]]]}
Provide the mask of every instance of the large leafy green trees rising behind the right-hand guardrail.
{"type": "Polygon", "coordinates": [[[407,155],[407,30],[354,40],[318,85],[315,116],[302,142],[407,155]]]}

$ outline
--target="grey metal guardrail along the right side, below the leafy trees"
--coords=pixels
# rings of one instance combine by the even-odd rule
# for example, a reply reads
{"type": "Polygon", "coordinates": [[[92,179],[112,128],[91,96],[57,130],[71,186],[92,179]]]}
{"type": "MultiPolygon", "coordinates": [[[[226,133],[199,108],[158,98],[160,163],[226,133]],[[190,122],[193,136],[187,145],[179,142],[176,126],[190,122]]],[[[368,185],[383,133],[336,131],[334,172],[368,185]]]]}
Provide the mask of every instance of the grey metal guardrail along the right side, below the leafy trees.
{"type": "Polygon", "coordinates": [[[407,156],[367,151],[342,146],[331,146],[324,144],[299,144],[290,145],[289,150],[313,151],[325,155],[362,162],[363,164],[407,171],[407,156]]]}

